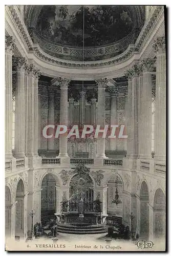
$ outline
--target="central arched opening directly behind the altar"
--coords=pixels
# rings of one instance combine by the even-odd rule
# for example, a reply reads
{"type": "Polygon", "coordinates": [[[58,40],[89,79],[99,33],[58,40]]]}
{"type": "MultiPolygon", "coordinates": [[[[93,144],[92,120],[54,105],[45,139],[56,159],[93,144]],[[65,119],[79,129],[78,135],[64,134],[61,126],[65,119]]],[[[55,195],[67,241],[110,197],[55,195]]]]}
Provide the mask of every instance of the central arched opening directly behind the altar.
{"type": "Polygon", "coordinates": [[[83,173],[81,178],[80,174],[76,174],[70,181],[70,211],[78,211],[81,199],[84,203],[84,211],[93,211],[93,180],[86,173],[83,173]]]}

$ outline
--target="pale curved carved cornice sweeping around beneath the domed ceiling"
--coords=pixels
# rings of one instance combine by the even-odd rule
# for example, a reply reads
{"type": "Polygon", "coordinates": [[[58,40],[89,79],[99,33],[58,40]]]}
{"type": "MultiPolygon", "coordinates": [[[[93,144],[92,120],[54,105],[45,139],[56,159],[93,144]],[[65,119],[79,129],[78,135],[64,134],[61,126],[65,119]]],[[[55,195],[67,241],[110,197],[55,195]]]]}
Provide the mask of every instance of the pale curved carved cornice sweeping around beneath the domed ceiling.
{"type": "MultiPolygon", "coordinates": [[[[101,68],[108,68],[108,67],[114,67],[117,64],[117,69],[118,69],[118,65],[121,68],[121,64],[126,62],[129,59],[132,59],[132,64],[135,60],[134,56],[137,56],[137,54],[139,54],[140,49],[143,45],[143,42],[145,41],[145,38],[147,37],[149,31],[152,30],[157,16],[159,15],[159,13],[161,11],[163,11],[163,6],[156,6],[156,8],[153,9],[153,12],[151,14],[151,16],[149,16],[147,22],[145,23],[143,29],[140,32],[140,35],[138,36],[138,39],[135,43],[135,45],[129,45],[129,47],[120,55],[115,56],[113,58],[110,59],[105,59],[105,60],[100,60],[100,61],[87,61],[87,62],[79,62],[79,61],[66,61],[66,60],[62,60],[62,59],[58,59],[56,57],[52,57],[51,55],[48,55],[47,53],[45,53],[44,51],[41,50],[41,48],[38,45],[33,44],[32,39],[29,35],[29,32],[27,30],[27,27],[24,23],[24,21],[22,19],[20,19],[20,14],[19,11],[17,9],[16,6],[6,6],[8,13],[10,13],[11,18],[13,19],[15,26],[17,27],[17,30],[19,30],[20,32],[20,37],[23,37],[23,40],[26,42],[26,45],[28,47],[28,56],[31,54],[31,56],[36,56],[37,59],[35,59],[36,63],[40,63],[39,60],[44,61],[45,65],[41,65],[41,67],[45,67],[47,66],[47,70],[51,71],[51,65],[54,65],[55,67],[61,67],[61,68],[68,68],[68,75],[70,73],[71,69],[76,69],[76,70],[83,70],[83,69],[89,69],[90,71],[92,69],[101,69],[101,68]],[[38,60],[39,59],[39,60],[38,60]],[[49,63],[51,65],[48,65],[46,63],[49,63]]],[[[127,62],[128,65],[130,65],[130,61],[127,62]]],[[[123,67],[124,68],[124,67],[123,67]]],[[[114,68],[115,69],[115,68],[114,68]]],[[[126,65],[125,65],[125,69],[126,69],[126,65]]],[[[53,70],[53,69],[52,69],[53,70]]],[[[59,68],[59,70],[61,70],[59,68]]],[[[110,69],[110,72],[113,72],[112,69],[110,69]]],[[[42,71],[42,70],[41,70],[42,71]]],[[[57,70],[58,71],[58,70],[57,70]]],[[[125,71],[125,70],[124,70],[125,71]]],[[[122,75],[124,73],[124,71],[121,71],[122,75]]],[[[105,72],[105,74],[110,73],[110,72],[105,72]]],[[[52,71],[52,73],[54,73],[52,71]]],[[[60,73],[60,72],[58,72],[60,73]]],[[[62,73],[62,72],[61,72],[62,73]]],[[[63,74],[65,73],[65,71],[63,71],[63,74]]],[[[72,71],[71,71],[72,73],[72,71]]],[[[90,72],[91,75],[91,72],[90,72]]],[[[89,76],[90,76],[89,75],[89,76]]],[[[102,72],[95,74],[95,76],[102,76],[102,72]]],[[[81,76],[81,74],[80,74],[81,76]]],[[[54,77],[54,75],[53,75],[54,77]]],[[[93,74],[92,74],[92,77],[93,74]]],[[[112,73],[111,73],[111,77],[112,77],[112,73]]]]}

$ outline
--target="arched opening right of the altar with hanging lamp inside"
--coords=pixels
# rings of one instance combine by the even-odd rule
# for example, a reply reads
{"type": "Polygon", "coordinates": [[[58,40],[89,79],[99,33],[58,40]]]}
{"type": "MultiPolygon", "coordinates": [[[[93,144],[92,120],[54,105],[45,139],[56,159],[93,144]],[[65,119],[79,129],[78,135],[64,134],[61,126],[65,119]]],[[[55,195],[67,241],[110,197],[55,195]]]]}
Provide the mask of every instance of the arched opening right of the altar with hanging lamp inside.
{"type": "Polygon", "coordinates": [[[112,176],[108,181],[108,214],[122,217],[123,203],[122,203],[122,180],[118,175],[112,176]],[[120,203],[114,203],[116,197],[116,190],[118,191],[120,203]]]}

